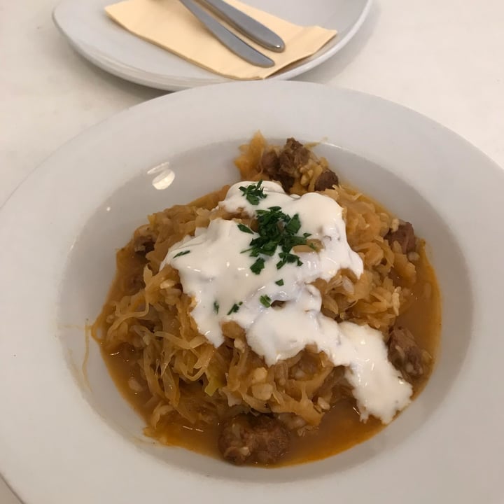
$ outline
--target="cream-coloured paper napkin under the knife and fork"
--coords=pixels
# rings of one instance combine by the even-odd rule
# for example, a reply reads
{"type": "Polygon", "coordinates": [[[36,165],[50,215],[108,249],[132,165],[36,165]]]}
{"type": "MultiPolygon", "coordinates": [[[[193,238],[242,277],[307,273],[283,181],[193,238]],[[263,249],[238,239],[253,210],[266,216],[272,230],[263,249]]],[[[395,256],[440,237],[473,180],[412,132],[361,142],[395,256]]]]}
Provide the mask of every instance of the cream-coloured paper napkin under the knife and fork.
{"type": "MultiPolygon", "coordinates": [[[[280,53],[269,51],[245,38],[247,43],[273,59],[274,66],[267,69],[253,66],[233,54],[179,0],[126,0],[107,6],[105,10],[113,20],[133,34],[206,69],[237,79],[270,76],[284,66],[314,54],[336,35],[335,30],[317,26],[300,27],[237,0],[227,1],[283,38],[286,50],[280,53]]],[[[219,21],[223,22],[221,19],[219,21]]],[[[232,27],[227,27],[244,38],[232,27]]]]}

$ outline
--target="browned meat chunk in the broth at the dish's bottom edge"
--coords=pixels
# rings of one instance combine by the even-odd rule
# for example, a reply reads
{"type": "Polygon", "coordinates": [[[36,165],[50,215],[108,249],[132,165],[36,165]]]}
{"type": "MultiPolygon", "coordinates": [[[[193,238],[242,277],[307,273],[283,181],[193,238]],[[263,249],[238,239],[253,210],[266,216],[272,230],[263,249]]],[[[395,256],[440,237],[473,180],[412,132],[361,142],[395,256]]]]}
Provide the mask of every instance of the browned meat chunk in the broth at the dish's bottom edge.
{"type": "Polygon", "coordinates": [[[234,416],[225,423],[218,439],[218,448],[225,460],[237,465],[275,463],[286,454],[288,447],[286,427],[264,414],[234,416]]]}

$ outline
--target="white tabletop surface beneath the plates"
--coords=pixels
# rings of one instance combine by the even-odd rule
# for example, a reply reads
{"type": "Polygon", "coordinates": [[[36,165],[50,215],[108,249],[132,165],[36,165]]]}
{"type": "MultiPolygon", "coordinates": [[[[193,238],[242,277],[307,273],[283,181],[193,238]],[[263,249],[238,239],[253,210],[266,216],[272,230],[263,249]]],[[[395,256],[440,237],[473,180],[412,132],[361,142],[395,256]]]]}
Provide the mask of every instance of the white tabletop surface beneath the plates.
{"type": "MultiPolygon", "coordinates": [[[[52,25],[56,3],[0,0],[0,205],[65,141],[161,94],[76,55],[52,25]]],[[[503,0],[375,0],[356,38],[299,80],[408,106],[504,167],[503,20],[503,0]]],[[[0,479],[0,504],[13,503],[0,479]]]]}

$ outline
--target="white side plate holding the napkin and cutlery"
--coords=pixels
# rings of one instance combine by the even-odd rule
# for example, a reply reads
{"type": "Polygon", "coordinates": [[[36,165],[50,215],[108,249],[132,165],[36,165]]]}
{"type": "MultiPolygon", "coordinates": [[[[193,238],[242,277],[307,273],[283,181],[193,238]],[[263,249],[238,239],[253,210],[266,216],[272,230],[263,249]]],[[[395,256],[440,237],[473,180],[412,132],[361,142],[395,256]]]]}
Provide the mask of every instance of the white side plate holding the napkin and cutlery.
{"type": "MultiPolygon", "coordinates": [[[[356,34],[371,4],[371,0],[247,1],[298,25],[320,25],[338,31],[338,36],[316,54],[270,77],[281,80],[300,75],[335,55],[356,34]]],[[[230,80],[130,34],[105,15],[104,6],[111,3],[114,0],[64,0],[54,10],[57,27],[90,62],[118,77],[162,90],[230,80]]]]}

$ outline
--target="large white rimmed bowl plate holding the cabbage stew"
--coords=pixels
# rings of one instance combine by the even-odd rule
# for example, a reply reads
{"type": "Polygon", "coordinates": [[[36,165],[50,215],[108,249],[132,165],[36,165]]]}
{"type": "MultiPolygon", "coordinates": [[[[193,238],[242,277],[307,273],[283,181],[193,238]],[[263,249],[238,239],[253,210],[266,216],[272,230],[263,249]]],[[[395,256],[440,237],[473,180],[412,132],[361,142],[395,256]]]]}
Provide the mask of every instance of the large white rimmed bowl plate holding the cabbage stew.
{"type": "Polygon", "coordinates": [[[147,102],[52,155],[0,212],[0,468],[28,504],[500,503],[504,173],[440,125],[309,83],[202,87],[147,102]],[[246,97],[246,99],[245,99],[246,97]],[[237,468],[141,435],[91,342],[114,251],[146,215],[237,180],[237,146],[323,141],[337,172],[412,221],[443,297],[426,390],[368,442],[291,468],[237,468]],[[175,174],[155,190],[148,169],[175,174]]]}

